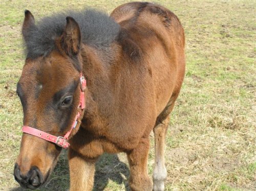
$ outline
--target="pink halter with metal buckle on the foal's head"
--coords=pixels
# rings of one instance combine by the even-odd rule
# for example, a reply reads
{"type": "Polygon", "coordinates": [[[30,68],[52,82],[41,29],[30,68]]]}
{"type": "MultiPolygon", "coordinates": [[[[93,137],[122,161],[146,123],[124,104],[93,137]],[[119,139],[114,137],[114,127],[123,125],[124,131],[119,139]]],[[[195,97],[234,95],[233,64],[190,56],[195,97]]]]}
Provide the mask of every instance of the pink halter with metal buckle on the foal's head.
{"type": "Polygon", "coordinates": [[[78,112],[75,116],[75,120],[74,120],[70,130],[63,137],[62,136],[57,137],[57,136],[51,135],[49,133],[46,133],[44,131],[35,129],[33,127],[29,127],[29,126],[23,126],[22,131],[24,133],[28,133],[30,135],[34,135],[39,138],[45,139],[47,141],[53,142],[57,146],[62,147],[64,149],[68,149],[68,147],[70,146],[70,144],[68,143],[69,135],[70,135],[71,131],[73,129],[75,129],[75,127],[77,125],[77,120],[78,120],[78,118],[80,118],[80,116],[82,114],[82,110],[85,107],[85,101],[84,101],[84,99],[85,99],[84,98],[84,90],[85,89],[86,89],[86,79],[83,77],[82,73],[80,73],[80,103],[78,105],[78,108],[81,108],[81,111],[78,110],[78,112]]]}

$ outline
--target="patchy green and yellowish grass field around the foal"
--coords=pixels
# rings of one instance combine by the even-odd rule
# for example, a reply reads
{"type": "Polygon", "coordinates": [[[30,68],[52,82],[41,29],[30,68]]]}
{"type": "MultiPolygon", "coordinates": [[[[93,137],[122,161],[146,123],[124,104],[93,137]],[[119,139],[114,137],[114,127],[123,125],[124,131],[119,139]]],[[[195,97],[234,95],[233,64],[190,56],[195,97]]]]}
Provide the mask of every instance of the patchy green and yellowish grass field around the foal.
{"type": "MultiPolygon", "coordinates": [[[[0,190],[22,190],[13,178],[22,106],[15,94],[25,57],[24,10],[35,19],[68,8],[108,13],[128,1],[0,2],[0,190]]],[[[166,190],[256,190],[256,1],[155,1],[172,10],[186,34],[186,76],[166,140],[166,190]]],[[[154,142],[148,159],[154,165],[154,142]]],[[[129,190],[125,155],[103,155],[94,190],[129,190]]],[[[67,190],[63,152],[41,190],[67,190]]]]}

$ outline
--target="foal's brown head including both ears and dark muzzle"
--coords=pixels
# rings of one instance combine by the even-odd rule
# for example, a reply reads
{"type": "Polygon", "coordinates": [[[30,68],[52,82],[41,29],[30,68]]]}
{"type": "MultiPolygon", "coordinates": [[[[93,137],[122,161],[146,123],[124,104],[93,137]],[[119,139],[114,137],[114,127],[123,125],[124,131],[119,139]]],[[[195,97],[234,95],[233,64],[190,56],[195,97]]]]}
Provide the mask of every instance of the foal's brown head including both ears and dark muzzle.
{"type": "Polygon", "coordinates": [[[84,103],[81,96],[84,89],[80,87],[81,34],[78,23],[72,17],[66,19],[65,29],[52,39],[52,45],[41,42],[39,46],[34,17],[25,11],[22,33],[27,58],[17,83],[25,133],[14,168],[15,179],[25,188],[34,189],[47,182],[62,149],[60,146],[68,146],[68,137],[64,136],[62,145],[58,144],[59,140],[54,144],[47,138],[63,138],[67,134],[72,137],[79,126],[74,124],[76,118],[80,120],[77,113],[82,114],[83,108],[79,107],[84,103]]]}

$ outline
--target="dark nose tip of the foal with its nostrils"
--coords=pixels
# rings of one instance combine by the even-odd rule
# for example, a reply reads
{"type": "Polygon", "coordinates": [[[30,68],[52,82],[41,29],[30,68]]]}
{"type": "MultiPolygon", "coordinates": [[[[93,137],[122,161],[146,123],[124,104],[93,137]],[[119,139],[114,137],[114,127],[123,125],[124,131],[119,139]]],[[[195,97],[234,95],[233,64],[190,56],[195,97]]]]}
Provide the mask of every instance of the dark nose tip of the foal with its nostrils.
{"type": "Polygon", "coordinates": [[[45,180],[42,173],[36,166],[32,166],[32,168],[26,174],[22,174],[17,163],[15,163],[14,166],[14,177],[20,186],[29,189],[38,188],[44,183],[45,180]]]}

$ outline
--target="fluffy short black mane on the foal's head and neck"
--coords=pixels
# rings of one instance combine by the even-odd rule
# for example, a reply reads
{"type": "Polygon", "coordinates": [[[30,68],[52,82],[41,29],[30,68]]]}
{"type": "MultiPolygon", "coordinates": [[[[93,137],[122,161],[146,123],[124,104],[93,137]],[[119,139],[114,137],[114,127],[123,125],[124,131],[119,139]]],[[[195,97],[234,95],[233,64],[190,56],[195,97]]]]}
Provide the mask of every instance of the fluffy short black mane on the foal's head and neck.
{"type": "Polygon", "coordinates": [[[111,17],[93,9],[58,13],[42,18],[35,27],[27,31],[27,57],[47,56],[55,49],[55,39],[63,33],[67,16],[73,17],[79,24],[82,42],[97,47],[109,46],[120,30],[118,23],[111,17]]]}

